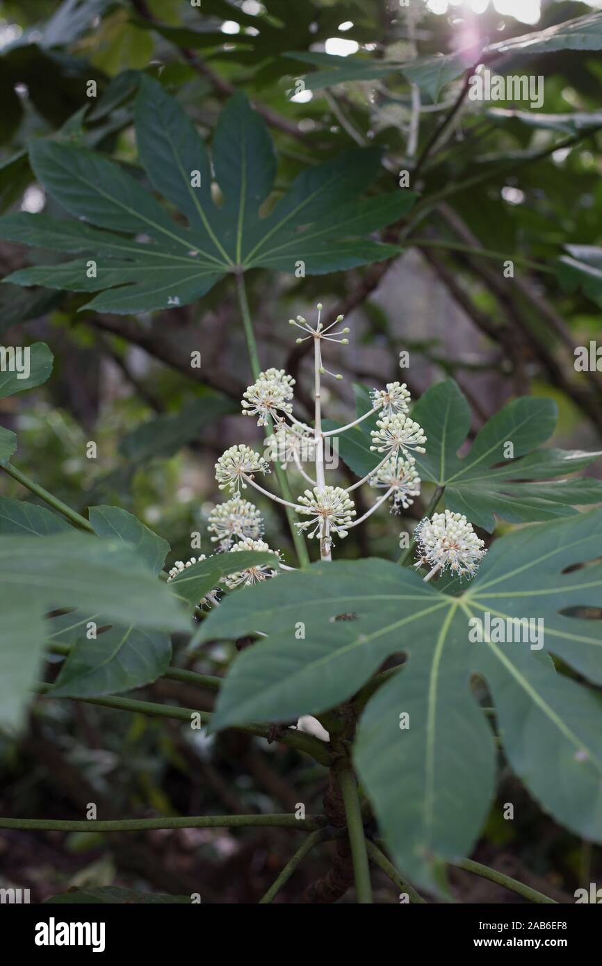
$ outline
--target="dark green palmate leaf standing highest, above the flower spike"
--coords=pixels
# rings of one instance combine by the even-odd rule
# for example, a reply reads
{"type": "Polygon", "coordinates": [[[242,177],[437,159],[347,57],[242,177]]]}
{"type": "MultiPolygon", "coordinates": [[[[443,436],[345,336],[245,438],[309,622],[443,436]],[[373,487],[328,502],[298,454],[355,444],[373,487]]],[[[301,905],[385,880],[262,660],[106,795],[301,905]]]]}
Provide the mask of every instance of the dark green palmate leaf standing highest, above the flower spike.
{"type": "Polygon", "coordinates": [[[11,282],[98,292],[86,307],[135,313],[200,298],[228,272],[261,267],[295,273],[302,263],[305,272],[322,273],[399,252],[366,236],[406,213],[414,195],[397,191],[358,200],[379,173],[378,149],[347,151],[303,171],[271,213],[260,217],[276,161],[268,129],[244,95],[228,102],[215,130],[220,206],[203,141],[177,100],[150,77],[140,83],[135,128],[150,181],[187,226],[114,162],[40,139],[30,148],[36,176],[80,221],[10,214],[0,219],[0,237],[82,257],[18,270],[11,282]]]}

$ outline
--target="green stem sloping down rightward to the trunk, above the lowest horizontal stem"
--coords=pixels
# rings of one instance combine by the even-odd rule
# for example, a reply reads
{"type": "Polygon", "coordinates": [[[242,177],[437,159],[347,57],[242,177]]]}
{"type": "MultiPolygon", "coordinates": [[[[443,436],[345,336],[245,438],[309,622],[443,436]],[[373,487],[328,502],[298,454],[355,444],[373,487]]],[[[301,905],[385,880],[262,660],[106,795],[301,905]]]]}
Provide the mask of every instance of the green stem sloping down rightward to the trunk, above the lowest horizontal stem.
{"type": "MultiPolygon", "coordinates": [[[[33,690],[38,692],[38,694],[51,697],[51,687],[49,684],[38,684],[33,690]]],[[[172,704],[157,704],[153,701],[140,701],[131,697],[116,697],[112,695],[110,697],[73,697],[69,699],[83,701],[84,704],[98,704],[102,708],[114,708],[117,711],[130,711],[156,718],[173,718],[176,721],[186,722],[188,725],[192,720],[192,716],[198,716],[198,720],[202,725],[208,725],[214,717],[207,711],[199,711],[198,708],[179,708],[174,707],[172,704]]],[[[233,730],[254,734],[259,738],[270,738],[272,734],[269,725],[259,723],[235,725],[233,730]]],[[[318,738],[314,738],[310,734],[305,734],[303,731],[293,731],[289,728],[278,738],[278,741],[283,745],[290,745],[291,748],[296,748],[299,752],[310,754],[316,761],[319,761],[323,765],[330,765],[331,756],[324,742],[319,741],[318,738]]]]}

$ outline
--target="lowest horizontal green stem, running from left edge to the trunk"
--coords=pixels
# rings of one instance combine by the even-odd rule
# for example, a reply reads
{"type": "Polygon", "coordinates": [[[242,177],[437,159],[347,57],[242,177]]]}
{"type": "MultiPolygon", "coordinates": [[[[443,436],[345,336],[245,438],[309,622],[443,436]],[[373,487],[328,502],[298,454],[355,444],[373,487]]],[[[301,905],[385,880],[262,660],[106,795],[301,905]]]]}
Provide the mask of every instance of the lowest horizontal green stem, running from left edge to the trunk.
{"type": "Polygon", "coordinates": [[[146,832],[153,829],[225,829],[275,826],[302,829],[320,836],[326,823],[322,815],[296,818],[290,814],[264,815],[159,815],[157,818],[124,818],[114,821],[60,821],[46,818],[0,818],[0,829],[21,829],[40,832],[146,832]],[[318,831],[314,831],[318,830],[318,831]]]}

